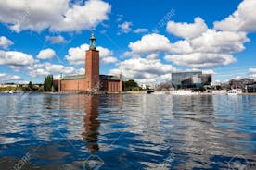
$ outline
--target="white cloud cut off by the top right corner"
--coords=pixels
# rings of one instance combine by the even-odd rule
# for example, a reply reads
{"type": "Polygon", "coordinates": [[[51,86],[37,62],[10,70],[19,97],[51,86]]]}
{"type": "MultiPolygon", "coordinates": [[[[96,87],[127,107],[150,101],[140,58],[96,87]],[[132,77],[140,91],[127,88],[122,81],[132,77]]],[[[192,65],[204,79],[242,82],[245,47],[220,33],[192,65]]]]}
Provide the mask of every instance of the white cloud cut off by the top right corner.
{"type": "Polygon", "coordinates": [[[214,22],[216,30],[232,30],[232,31],[256,31],[256,1],[244,0],[237,10],[222,21],[214,22]]]}

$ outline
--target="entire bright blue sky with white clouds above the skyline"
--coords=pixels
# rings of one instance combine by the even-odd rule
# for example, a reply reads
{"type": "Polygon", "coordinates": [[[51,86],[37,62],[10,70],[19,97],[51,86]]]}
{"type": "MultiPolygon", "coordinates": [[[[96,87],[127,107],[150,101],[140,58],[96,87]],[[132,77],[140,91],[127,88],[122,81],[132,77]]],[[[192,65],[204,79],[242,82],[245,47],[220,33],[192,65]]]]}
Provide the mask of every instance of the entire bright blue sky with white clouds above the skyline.
{"type": "Polygon", "coordinates": [[[140,84],[202,70],[256,79],[255,0],[0,0],[0,83],[84,74],[96,35],[100,73],[140,84]]]}

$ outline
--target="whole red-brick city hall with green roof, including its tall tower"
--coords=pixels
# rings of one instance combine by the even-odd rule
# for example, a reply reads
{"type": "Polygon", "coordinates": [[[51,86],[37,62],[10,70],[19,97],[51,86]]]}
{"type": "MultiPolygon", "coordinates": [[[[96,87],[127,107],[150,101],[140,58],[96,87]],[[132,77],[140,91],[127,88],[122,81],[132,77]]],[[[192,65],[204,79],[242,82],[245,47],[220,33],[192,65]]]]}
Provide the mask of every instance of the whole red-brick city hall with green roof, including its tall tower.
{"type": "Polygon", "coordinates": [[[121,92],[122,74],[119,77],[99,74],[99,51],[92,33],[89,49],[85,53],[85,74],[65,76],[54,80],[58,91],[121,92]]]}

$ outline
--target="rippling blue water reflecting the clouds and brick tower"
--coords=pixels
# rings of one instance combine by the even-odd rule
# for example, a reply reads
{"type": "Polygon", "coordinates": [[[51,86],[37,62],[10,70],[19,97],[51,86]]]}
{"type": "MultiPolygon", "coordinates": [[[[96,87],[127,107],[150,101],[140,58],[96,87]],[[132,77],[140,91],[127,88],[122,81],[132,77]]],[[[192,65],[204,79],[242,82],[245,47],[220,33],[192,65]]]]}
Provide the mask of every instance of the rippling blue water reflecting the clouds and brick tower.
{"type": "Polygon", "coordinates": [[[0,94],[0,169],[256,169],[256,96],[0,94]]]}

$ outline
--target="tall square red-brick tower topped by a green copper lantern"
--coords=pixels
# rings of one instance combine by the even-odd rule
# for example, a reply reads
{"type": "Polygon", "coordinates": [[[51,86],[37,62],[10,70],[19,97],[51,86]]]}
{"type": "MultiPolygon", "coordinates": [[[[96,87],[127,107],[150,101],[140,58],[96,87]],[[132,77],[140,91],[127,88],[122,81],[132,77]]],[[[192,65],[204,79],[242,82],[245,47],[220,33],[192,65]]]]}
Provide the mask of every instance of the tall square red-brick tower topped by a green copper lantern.
{"type": "Polygon", "coordinates": [[[86,91],[99,91],[99,52],[96,50],[96,37],[94,32],[90,37],[89,50],[85,56],[85,89],[86,91]]]}

